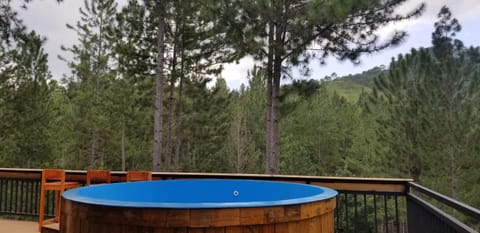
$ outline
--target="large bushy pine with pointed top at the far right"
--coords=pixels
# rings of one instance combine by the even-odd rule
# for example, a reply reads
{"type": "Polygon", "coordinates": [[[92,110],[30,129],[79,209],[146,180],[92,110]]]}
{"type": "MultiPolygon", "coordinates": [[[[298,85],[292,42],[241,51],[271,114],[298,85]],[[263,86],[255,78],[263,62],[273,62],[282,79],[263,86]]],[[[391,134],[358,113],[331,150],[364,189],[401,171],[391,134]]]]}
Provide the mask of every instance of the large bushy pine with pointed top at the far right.
{"type": "Polygon", "coordinates": [[[374,94],[389,111],[379,134],[392,149],[390,167],[406,165],[405,173],[415,180],[458,198],[459,177],[478,149],[472,143],[479,120],[478,49],[455,39],[461,26],[448,8],[438,17],[433,47],[399,56],[388,74],[375,80],[374,94]],[[445,173],[449,176],[438,177],[445,173]]]}

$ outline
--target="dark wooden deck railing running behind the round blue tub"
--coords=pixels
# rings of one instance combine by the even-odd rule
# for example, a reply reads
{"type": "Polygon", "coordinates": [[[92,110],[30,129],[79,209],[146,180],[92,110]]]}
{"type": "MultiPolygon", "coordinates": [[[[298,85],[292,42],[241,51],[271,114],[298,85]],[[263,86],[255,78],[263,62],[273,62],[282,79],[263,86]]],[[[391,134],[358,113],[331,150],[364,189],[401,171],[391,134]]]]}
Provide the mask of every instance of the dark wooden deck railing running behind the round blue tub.
{"type": "MultiPolygon", "coordinates": [[[[66,174],[67,180],[85,181],[86,171],[67,170],[66,174]]],[[[112,182],[124,181],[125,177],[125,172],[112,172],[112,182]]],[[[480,226],[478,209],[435,193],[409,179],[153,173],[154,180],[206,178],[287,181],[336,189],[339,192],[335,213],[337,233],[474,233],[480,226]],[[432,200],[448,205],[456,214],[465,213],[469,216],[469,225],[442,211],[432,200]]],[[[40,180],[40,169],[0,168],[0,215],[38,217],[40,180]]],[[[46,214],[52,216],[54,193],[47,195],[46,214]]]]}

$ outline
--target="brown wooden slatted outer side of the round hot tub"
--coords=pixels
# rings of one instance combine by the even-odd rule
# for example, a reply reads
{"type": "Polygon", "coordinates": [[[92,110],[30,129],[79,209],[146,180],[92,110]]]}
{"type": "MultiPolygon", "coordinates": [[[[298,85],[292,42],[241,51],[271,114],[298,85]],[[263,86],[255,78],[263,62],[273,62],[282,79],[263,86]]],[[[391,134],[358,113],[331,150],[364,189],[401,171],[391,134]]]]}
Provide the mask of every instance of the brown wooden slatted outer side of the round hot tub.
{"type": "MultiPolygon", "coordinates": [[[[130,225],[143,227],[144,230],[164,229],[158,232],[181,232],[182,227],[188,226],[189,229],[197,230],[203,228],[203,232],[244,232],[248,233],[270,233],[296,229],[294,232],[318,233],[322,229],[333,227],[333,210],[335,208],[335,199],[306,203],[301,205],[275,206],[262,208],[242,208],[242,209],[141,209],[141,208],[113,208],[103,206],[87,206],[81,203],[68,201],[65,203],[65,212],[62,214],[65,222],[70,222],[74,228],[90,230],[92,224],[98,222],[102,226],[111,225],[130,225]],[[322,222],[323,218],[319,215],[328,216],[330,222],[322,222]],[[84,224],[85,221],[90,221],[84,224]],[[302,226],[300,223],[302,222],[302,226]],[[283,224],[285,223],[285,224],[283,224]],[[75,226],[75,224],[79,224],[75,226]],[[275,226],[275,224],[278,224],[275,226]],[[240,225],[233,227],[233,225],[240,225]],[[221,227],[225,226],[225,227],[221,227]],[[232,227],[230,227],[232,226],[232,227]],[[178,228],[178,229],[177,229],[178,228]],[[211,228],[211,229],[210,229],[211,228]],[[243,230],[241,230],[243,229],[243,230]],[[285,230],[286,229],[286,230],[285,230]]],[[[96,224],[95,224],[96,225],[96,224]]],[[[102,227],[103,228],[103,227],[102,227]]],[[[130,228],[129,228],[130,229],[130,228]]],[[[129,232],[132,229],[117,229],[115,232],[129,232]]],[[[333,229],[333,228],[332,228],[333,229]]],[[[113,228],[106,228],[106,232],[112,232],[113,228]]],[[[150,232],[150,230],[148,230],[150,232]]],[[[80,232],[80,231],[76,231],[80,232]]],[[[100,231],[101,232],[101,231],[100,231]]],[[[105,232],[105,231],[104,231],[105,232]]],[[[191,232],[191,231],[190,231],[191,232]]],[[[290,232],[292,232],[290,230],[290,232]]],[[[328,232],[327,232],[328,233],[328,232]]]]}

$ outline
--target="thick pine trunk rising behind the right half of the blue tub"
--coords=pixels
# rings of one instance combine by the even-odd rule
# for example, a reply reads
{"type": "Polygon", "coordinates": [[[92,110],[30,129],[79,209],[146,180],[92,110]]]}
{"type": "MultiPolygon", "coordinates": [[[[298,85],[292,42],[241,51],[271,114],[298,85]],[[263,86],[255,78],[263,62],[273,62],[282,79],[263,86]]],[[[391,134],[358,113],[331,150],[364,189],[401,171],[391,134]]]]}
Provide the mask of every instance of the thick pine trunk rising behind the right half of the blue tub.
{"type": "Polygon", "coordinates": [[[273,103],[273,36],[274,36],[274,29],[273,23],[269,23],[268,25],[268,57],[267,57],[267,135],[266,135],[266,166],[265,166],[265,173],[266,174],[274,174],[272,167],[274,166],[274,162],[272,160],[272,103],[273,103]]]}

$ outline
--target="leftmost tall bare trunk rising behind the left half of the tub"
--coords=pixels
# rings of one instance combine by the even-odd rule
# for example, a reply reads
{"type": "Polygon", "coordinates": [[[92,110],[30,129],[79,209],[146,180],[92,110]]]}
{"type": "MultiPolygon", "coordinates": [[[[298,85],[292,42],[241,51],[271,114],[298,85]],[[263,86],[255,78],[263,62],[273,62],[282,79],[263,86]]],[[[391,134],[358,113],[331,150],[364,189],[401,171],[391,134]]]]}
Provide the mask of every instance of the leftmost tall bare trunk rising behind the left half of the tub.
{"type": "Polygon", "coordinates": [[[154,144],[153,144],[153,166],[152,170],[160,171],[162,163],[162,127],[163,127],[163,66],[164,66],[164,34],[165,21],[163,16],[162,3],[160,0],[156,1],[156,8],[158,13],[158,28],[157,28],[157,77],[156,77],[156,95],[155,95],[155,113],[154,113],[154,144]]]}

